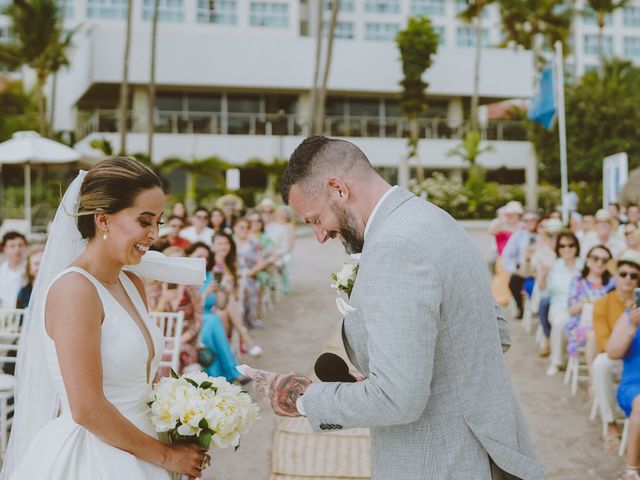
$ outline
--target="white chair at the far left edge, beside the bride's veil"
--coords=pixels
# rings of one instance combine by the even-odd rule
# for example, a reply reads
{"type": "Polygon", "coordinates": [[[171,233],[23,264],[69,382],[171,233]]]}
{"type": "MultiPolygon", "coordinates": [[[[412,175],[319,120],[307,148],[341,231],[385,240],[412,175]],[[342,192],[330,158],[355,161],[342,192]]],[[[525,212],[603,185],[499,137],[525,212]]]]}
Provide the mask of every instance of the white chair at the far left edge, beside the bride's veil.
{"type": "MultiPolygon", "coordinates": [[[[21,308],[0,308],[0,363],[16,363],[18,343],[25,321],[25,310],[21,308]],[[15,355],[12,353],[15,352],[15,355]]],[[[9,439],[9,429],[13,423],[12,403],[15,378],[0,373],[0,452],[4,454],[9,439]]]]}

